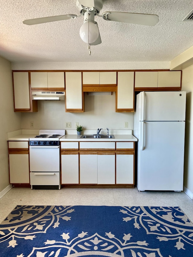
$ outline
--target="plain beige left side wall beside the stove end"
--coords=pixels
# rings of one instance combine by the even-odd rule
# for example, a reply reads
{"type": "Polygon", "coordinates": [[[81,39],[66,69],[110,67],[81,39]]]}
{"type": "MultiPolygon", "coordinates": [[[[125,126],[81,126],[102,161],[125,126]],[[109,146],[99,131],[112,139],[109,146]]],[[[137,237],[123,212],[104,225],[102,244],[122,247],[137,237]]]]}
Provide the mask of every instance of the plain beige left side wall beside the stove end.
{"type": "Polygon", "coordinates": [[[21,129],[21,114],[14,112],[11,62],[0,57],[0,192],[9,185],[6,133],[21,129]]]}

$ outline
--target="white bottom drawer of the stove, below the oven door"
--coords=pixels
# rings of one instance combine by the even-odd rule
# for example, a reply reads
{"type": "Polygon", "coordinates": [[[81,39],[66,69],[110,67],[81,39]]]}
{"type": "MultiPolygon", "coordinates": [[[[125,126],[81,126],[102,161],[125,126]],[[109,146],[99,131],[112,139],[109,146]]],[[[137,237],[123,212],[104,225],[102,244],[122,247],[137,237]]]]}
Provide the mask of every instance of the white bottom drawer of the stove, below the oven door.
{"type": "Polygon", "coordinates": [[[30,172],[31,185],[59,185],[60,173],[59,172],[30,172]]]}

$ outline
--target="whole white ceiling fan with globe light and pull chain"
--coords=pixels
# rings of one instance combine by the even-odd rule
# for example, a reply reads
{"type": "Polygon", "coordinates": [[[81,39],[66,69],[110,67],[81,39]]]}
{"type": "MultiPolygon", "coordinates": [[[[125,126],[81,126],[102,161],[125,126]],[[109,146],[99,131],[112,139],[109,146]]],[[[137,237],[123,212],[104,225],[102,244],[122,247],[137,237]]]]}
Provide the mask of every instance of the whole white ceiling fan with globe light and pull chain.
{"type": "Polygon", "coordinates": [[[84,23],[80,28],[80,37],[84,42],[88,43],[88,49],[90,49],[90,45],[99,45],[101,43],[98,25],[96,21],[94,21],[95,15],[102,17],[104,20],[107,21],[118,21],[147,26],[154,26],[159,21],[159,17],[156,14],[106,11],[102,15],[100,15],[99,13],[103,8],[103,0],[77,0],[76,7],[78,8],[80,15],[65,14],[58,16],[42,17],[24,20],[23,23],[27,25],[34,25],[58,20],[75,19],[84,16],[84,23]]]}

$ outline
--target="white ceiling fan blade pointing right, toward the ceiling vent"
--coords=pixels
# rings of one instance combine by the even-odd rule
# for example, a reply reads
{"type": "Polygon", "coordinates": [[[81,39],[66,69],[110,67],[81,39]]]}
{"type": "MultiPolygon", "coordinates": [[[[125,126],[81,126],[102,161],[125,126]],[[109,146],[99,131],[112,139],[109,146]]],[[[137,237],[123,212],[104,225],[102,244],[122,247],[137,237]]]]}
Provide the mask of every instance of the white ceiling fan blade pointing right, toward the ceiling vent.
{"type": "Polygon", "coordinates": [[[129,12],[104,12],[104,20],[128,22],[133,24],[154,26],[158,23],[159,17],[156,14],[142,14],[129,12]]]}

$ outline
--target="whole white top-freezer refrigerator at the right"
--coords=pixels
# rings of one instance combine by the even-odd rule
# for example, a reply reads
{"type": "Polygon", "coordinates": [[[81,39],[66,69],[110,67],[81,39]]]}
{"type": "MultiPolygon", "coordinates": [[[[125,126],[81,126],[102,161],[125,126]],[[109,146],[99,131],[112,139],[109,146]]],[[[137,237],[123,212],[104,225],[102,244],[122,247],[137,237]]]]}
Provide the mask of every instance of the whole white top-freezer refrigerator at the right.
{"type": "Polygon", "coordinates": [[[186,92],[140,92],[134,113],[137,188],[183,190],[186,92]]]}

